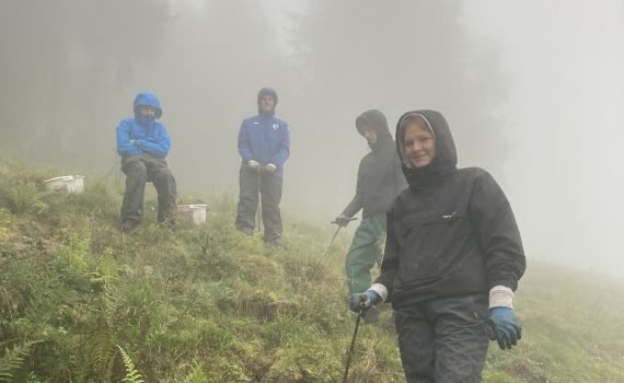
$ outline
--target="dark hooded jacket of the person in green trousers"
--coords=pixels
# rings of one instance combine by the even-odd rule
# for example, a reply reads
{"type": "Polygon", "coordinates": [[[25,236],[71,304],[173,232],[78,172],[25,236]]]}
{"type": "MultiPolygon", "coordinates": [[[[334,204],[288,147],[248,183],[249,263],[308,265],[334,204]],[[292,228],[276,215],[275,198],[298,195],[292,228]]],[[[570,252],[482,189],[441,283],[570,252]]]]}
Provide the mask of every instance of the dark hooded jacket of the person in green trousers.
{"type": "Polygon", "coordinates": [[[360,161],[356,196],[342,213],[349,218],[360,209],[362,218],[385,213],[398,193],[407,187],[385,116],[379,111],[367,111],[356,119],[358,131],[365,125],[374,129],[377,142],[370,143],[371,152],[360,161]]]}

